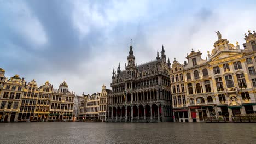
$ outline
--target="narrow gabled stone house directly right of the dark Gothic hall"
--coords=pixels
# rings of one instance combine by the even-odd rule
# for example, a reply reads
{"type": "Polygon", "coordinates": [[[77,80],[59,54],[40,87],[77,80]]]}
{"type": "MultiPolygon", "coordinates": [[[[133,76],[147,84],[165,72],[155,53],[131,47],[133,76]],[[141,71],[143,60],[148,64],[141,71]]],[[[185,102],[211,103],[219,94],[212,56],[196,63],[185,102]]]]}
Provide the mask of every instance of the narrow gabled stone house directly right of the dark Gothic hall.
{"type": "Polygon", "coordinates": [[[183,65],[174,58],[170,70],[173,115],[177,122],[189,121],[183,65]]]}

